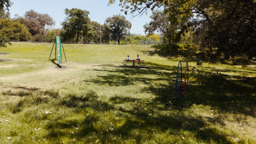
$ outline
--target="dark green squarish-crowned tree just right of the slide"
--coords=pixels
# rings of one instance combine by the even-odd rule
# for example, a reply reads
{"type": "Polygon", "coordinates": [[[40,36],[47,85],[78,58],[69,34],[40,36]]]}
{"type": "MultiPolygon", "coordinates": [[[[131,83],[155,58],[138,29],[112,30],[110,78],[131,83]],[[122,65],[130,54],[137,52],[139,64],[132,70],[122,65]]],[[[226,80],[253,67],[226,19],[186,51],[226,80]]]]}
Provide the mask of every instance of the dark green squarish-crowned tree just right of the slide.
{"type": "Polygon", "coordinates": [[[66,39],[76,38],[76,43],[78,43],[79,36],[88,37],[92,33],[92,28],[90,26],[89,11],[72,8],[65,9],[66,20],[61,23],[66,39]],[[69,36],[69,37],[68,37],[69,36]]]}

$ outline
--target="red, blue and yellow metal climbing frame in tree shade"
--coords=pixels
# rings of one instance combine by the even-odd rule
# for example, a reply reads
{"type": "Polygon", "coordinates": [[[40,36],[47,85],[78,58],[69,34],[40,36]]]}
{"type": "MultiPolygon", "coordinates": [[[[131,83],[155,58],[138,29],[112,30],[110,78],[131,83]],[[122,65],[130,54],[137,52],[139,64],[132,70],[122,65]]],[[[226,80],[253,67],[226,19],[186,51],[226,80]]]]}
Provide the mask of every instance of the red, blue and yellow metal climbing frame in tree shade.
{"type": "Polygon", "coordinates": [[[179,61],[177,67],[176,90],[175,92],[185,92],[188,86],[189,65],[187,61],[179,61]]]}

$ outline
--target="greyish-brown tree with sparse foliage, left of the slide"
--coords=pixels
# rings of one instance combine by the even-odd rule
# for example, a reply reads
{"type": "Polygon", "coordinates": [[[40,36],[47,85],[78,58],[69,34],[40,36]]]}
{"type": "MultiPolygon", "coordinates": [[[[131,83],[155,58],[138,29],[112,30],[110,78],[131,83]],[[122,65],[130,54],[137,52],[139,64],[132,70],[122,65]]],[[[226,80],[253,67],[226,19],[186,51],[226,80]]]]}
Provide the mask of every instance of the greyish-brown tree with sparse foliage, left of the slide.
{"type": "MultiPolygon", "coordinates": [[[[20,20],[20,18],[18,18],[20,20]]],[[[55,25],[54,20],[48,14],[39,14],[34,10],[26,11],[24,23],[32,35],[43,34],[45,26],[55,25]]]]}

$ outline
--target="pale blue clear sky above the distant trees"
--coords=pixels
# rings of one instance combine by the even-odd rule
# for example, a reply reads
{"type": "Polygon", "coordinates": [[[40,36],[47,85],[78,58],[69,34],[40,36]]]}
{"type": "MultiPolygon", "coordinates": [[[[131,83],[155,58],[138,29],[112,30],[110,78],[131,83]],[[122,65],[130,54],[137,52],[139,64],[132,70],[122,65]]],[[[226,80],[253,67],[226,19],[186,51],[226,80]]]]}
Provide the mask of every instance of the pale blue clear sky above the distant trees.
{"type": "Polygon", "coordinates": [[[152,14],[148,11],[148,14],[134,17],[131,14],[125,15],[121,12],[119,7],[119,1],[115,4],[108,5],[108,0],[11,0],[13,5],[10,7],[11,18],[15,14],[24,16],[25,11],[33,9],[40,14],[49,14],[55,21],[55,26],[51,28],[61,28],[61,22],[65,20],[64,10],[66,8],[79,8],[90,12],[91,21],[96,21],[103,24],[104,21],[113,15],[124,15],[126,20],[132,23],[130,33],[144,35],[143,26],[150,22],[149,16],[152,14]]]}

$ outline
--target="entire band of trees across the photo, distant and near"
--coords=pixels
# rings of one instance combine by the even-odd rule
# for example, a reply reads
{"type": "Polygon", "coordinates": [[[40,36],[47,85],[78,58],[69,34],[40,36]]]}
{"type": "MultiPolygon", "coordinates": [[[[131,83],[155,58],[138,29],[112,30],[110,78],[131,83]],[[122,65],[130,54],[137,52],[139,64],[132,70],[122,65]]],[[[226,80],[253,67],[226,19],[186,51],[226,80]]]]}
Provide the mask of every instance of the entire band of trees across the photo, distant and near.
{"type": "MultiPolygon", "coordinates": [[[[10,40],[52,42],[54,20],[48,14],[27,11],[9,18],[10,0],[0,0],[0,46],[10,40]]],[[[109,0],[109,4],[115,1],[109,0]]],[[[195,44],[197,56],[211,62],[255,61],[255,7],[253,0],[131,0],[119,1],[121,11],[133,15],[153,10],[144,25],[146,36],[131,34],[124,16],[108,17],[103,25],[91,21],[89,11],[65,9],[63,41],[72,43],[195,44]],[[162,9],[162,11],[156,9],[162,9]],[[157,33],[157,34],[155,34],[157,33]]]]}

